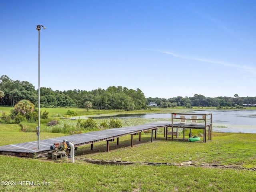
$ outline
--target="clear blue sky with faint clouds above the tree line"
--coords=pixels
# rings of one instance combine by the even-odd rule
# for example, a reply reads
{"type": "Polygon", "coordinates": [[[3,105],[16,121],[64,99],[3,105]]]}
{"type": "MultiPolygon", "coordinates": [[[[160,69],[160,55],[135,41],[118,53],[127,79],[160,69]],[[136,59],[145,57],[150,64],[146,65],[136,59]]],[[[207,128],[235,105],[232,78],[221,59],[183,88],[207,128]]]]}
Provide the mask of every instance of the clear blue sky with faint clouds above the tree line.
{"type": "Polygon", "coordinates": [[[0,0],[0,75],[53,90],[256,96],[256,1],[0,0]]]}

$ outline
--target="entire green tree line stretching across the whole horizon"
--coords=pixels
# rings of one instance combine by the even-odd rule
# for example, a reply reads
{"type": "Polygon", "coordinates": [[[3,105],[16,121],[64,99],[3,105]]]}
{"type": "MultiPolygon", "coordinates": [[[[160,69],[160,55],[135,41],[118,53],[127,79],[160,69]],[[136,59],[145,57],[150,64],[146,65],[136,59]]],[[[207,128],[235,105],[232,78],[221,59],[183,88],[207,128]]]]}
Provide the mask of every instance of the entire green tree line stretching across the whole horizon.
{"type": "MultiPolygon", "coordinates": [[[[38,90],[27,81],[12,80],[6,75],[0,77],[0,105],[14,106],[20,100],[28,100],[38,105],[38,90]]],[[[140,110],[146,109],[150,102],[162,108],[186,106],[243,106],[256,104],[256,97],[220,96],[216,98],[194,94],[193,97],[178,96],[175,98],[145,98],[137,88],[128,89],[122,86],[110,86],[106,90],[98,88],[92,91],[64,90],[54,91],[51,88],[40,88],[40,106],[44,108],[70,107],[93,108],[105,110],[140,110]]]]}

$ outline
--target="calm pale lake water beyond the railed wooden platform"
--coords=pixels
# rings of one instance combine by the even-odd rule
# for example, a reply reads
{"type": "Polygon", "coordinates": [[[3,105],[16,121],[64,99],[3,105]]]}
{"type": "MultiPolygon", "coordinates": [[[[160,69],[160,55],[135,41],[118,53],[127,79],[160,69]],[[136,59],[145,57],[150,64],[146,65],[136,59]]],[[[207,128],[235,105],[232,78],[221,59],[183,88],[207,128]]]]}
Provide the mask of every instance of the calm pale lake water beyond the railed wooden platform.
{"type": "MultiPolygon", "coordinates": [[[[212,130],[215,132],[256,133],[256,110],[203,110],[195,114],[212,113],[212,130]]],[[[171,114],[130,114],[118,118],[171,118],[171,114]]]]}

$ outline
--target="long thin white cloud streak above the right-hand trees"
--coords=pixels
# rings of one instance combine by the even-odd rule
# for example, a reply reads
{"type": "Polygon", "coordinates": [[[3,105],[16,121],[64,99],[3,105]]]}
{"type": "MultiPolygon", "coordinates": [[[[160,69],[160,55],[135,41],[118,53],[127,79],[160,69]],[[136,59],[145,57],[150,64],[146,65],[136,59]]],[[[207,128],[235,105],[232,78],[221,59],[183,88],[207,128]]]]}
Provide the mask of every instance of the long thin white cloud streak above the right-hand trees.
{"type": "Polygon", "coordinates": [[[204,59],[204,58],[195,58],[195,57],[190,57],[190,56],[182,56],[182,55],[178,55],[178,54],[168,52],[168,51],[158,51],[158,52],[168,54],[168,55],[172,55],[174,57],[178,57],[178,58],[182,58],[182,59],[189,59],[189,60],[208,62],[208,63],[213,63],[213,64],[220,64],[220,65],[223,65],[223,66],[229,66],[229,67],[232,67],[232,68],[236,68],[237,70],[243,70],[243,71],[249,72],[252,75],[256,75],[256,68],[252,68],[250,66],[230,64],[230,63],[227,63],[227,62],[214,61],[214,60],[209,60],[209,59],[204,59]]]}

